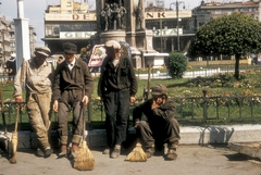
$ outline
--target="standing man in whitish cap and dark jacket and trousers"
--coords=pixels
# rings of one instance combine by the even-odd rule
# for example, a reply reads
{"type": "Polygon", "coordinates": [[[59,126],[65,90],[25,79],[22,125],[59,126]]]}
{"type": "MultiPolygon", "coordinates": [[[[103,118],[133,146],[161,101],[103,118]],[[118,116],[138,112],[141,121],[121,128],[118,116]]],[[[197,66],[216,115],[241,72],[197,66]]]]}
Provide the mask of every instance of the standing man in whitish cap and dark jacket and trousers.
{"type": "Polygon", "coordinates": [[[121,45],[109,40],[104,45],[107,58],[102,62],[98,95],[104,104],[108,148],[103,154],[115,159],[126,139],[129,102],[135,102],[137,80],[132,61],[121,57],[121,45]]]}

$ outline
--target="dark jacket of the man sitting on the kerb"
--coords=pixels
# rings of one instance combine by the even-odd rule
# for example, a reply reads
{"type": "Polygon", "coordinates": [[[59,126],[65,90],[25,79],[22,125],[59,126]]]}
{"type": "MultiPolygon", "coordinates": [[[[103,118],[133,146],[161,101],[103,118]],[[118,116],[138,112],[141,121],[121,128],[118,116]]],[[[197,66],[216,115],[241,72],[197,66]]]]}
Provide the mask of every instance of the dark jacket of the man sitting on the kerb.
{"type": "Polygon", "coordinates": [[[167,99],[164,104],[160,105],[160,108],[151,110],[152,102],[153,100],[149,99],[134,109],[134,124],[135,122],[140,121],[142,114],[146,115],[148,123],[151,125],[157,125],[157,123],[162,120],[169,121],[170,118],[174,117],[176,112],[176,105],[174,101],[167,99]]]}

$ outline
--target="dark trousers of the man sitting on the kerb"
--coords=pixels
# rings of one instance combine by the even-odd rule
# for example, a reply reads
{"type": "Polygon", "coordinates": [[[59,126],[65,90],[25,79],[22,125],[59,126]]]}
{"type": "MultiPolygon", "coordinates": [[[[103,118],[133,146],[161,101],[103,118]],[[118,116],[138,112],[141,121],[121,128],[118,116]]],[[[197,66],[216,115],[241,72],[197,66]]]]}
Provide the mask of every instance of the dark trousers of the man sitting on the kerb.
{"type": "Polygon", "coordinates": [[[167,143],[169,148],[176,148],[181,139],[179,126],[174,117],[171,120],[162,118],[152,124],[140,121],[137,135],[144,147],[157,145],[158,148],[161,148],[163,143],[167,143]]]}

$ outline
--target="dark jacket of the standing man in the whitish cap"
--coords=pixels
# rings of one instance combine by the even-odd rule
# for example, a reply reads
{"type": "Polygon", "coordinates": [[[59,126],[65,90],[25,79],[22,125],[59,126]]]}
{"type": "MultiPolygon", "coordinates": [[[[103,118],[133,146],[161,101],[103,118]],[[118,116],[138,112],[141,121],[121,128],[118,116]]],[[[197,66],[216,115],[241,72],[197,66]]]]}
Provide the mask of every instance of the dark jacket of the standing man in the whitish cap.
{"type": "Polygon", "coordinates": [[[125,57],[120,59],[114,67],[110,58],[105,58],[101,66],[101,76],[98,83],[98,96],[102,97],[109,91],[128,90],[129,95],[137,93],[138,84],[132,61],[125,57]]]}

